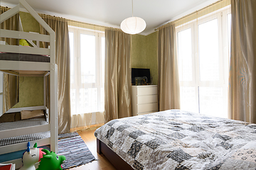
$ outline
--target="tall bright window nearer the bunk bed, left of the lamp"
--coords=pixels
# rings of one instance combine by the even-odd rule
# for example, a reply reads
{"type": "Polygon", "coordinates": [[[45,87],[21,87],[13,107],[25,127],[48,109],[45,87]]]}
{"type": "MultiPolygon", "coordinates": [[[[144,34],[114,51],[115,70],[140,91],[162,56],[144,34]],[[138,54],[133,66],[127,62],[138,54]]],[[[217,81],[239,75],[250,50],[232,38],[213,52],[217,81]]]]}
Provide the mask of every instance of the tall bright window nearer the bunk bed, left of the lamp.
{"type": "Polygon", "coordinates": [[[104,33],[69,26],[71,114],[104,111],[104,33]]]}

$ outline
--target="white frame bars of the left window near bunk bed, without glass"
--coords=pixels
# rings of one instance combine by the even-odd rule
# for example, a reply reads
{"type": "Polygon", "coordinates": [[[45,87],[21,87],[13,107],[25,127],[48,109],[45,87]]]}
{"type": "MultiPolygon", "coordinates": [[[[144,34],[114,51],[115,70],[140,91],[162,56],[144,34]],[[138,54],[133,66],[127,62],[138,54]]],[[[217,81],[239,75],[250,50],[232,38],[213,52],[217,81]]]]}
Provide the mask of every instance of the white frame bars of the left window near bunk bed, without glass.
{"type": "MultiPolygon", "coordinates": [[[[105,38],[105,33],[98,30],[90,30],[87,28],[78,28],[75,26],[68,26],[68,32],[73,33],[74,35],[74,53],[73,53],[73,81],[71,79],[71,69],[70,69],[70,93],[71,89],[75,89],[75,101],[79,101],[80,98],[80,89],[90,89],[90,88],[97,88],[97,111],[102,111],[100,106],[101,103],[101,96],[102,94],[101,89],[104,88],[104,75],[102,75],[102,54],[105,55],[105,52],[102,52],[102,38],[105,38]],[[81,71],[81,48],[80,48],[80,35],[93,35],[95,36],[95,82],[92,83],[82,83],[82,71],[81,71]]],[[[70,50],[71,52],[71,50],[70,50]]],[[[105,59],[103,59],[105,60],[105,59]]],[[[70,56],[70,64],[71,64],[71,56],[70,56]]],[[[70,65],[71,66],[71,65],[70,65]]],[[[80,114],[78,113],[77,105],[75,105],[75,112],[71,114],[80,114]]],[[[90,112],[91,113],[91,112],[90,112]]]]}

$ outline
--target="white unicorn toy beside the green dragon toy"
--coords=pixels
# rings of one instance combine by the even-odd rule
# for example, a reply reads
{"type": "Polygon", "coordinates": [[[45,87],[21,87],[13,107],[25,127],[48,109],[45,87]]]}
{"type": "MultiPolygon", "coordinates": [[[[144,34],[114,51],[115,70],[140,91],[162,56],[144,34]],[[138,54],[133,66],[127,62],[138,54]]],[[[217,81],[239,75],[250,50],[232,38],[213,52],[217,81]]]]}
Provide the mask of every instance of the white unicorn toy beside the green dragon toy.
{"type": "Polygon", "coordinates": [[[28,142],[26,152],[23,153],[23,166],[20,170],[36,170],[36,162],[39,162],[41,157],[43,157],[41,150],[42,148],[37,148],[37,143],[33,145],[33,148],[30,148],[30,142],[28,142]]]}

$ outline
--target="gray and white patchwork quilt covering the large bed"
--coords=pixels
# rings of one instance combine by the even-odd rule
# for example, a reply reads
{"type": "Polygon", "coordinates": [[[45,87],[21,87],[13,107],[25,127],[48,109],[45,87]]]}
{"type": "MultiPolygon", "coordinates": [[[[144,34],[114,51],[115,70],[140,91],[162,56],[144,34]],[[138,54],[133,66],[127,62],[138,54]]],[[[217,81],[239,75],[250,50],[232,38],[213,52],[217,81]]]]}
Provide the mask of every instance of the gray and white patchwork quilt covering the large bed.
{"type": "Polygon", "coordinates": [[[256,125],[180,110],[112,120],[95,131],[134,169],[256,170],[256,125]]]}

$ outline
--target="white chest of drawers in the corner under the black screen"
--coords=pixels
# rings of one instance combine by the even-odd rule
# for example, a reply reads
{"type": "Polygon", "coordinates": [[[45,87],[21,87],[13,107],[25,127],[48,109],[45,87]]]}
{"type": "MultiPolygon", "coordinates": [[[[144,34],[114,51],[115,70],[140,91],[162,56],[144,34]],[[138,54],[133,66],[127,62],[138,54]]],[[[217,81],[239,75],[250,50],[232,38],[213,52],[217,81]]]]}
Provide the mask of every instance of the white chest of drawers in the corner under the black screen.
{"type": "Polygon", "coordinates": [[[144,115],[158,111],[157,85],[132,86],[132,114],[144,115]]]}

